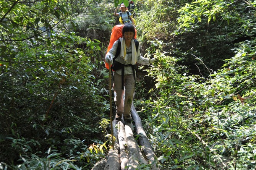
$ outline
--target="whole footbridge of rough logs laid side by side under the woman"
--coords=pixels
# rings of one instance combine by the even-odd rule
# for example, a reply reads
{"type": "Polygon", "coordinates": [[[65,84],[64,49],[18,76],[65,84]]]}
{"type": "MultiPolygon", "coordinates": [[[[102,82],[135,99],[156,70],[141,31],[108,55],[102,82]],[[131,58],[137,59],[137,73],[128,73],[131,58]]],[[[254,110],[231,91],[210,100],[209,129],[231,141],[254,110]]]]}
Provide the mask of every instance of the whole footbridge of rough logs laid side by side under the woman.
{"type": "Polygon", "coordinates": [[[112,121],[115,136],[114,150],[110,149],[107,160],[100,160],[92,170],[136,170],[143,167],[160,170],[157,157],[133,104],[131,117],[133,122],[124,121],[123,116],[119,121],[112,121]]]}

